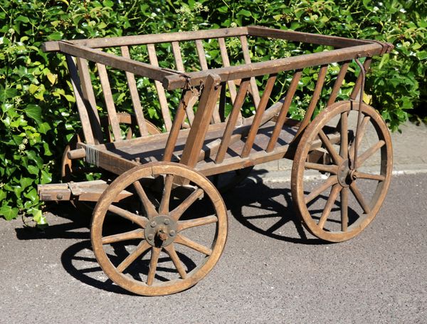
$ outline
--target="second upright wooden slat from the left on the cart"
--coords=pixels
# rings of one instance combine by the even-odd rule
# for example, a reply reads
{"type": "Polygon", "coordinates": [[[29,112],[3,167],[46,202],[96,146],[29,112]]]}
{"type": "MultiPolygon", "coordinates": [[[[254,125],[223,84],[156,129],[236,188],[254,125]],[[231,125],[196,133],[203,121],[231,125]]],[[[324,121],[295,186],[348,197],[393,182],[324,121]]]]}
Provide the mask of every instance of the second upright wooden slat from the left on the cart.
{"type": "Polygon", "coordinates": [[[93,93],[93,85],[90,80],[88,61],[84,58],[77,58],[78,74],[80,75],[80,85],[83,94],[83,101],[88,110],[90,126],[92,127],[95,144],[104,142],[102,129],[100,124],[100,116],[97,113],[95,93],[93,93]]]}

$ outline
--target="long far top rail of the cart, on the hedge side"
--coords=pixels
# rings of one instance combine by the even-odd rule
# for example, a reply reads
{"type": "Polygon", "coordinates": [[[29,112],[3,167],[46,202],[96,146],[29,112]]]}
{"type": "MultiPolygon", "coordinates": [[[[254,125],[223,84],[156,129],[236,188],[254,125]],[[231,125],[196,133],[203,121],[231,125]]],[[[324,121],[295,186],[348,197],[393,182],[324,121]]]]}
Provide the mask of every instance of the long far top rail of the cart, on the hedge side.
{"type": "MultiPolygon", "coordinates": [[[[236,37],[247,34],[247,27],[236,27],[211,29],[206,31],[181,31],[177,33],[157,33],[150,35],[79,39],[68,42],[75,45],[88,46],[90,48],[106,48],[117,46],[145,45],[150,43],[169,43],[172,41],[194,41],[196,39],[218,37],[236,37]]],[[[42,49],[45,52],[60,51],[59,43],[59,41],[48,41],[43,43],[42,49]]]]}

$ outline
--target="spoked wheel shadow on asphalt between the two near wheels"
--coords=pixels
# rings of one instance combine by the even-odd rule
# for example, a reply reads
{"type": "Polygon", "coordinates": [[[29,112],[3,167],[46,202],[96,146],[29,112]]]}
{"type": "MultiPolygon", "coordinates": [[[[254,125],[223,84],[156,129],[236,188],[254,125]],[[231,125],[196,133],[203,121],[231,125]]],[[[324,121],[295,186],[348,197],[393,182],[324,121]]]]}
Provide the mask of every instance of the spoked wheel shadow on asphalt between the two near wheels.
{"type": "Polygon", "coordinates": [[[252,174],[251,178],[245,179],[242,184],[223,194],[223,199],[231,215],[243,226],[258,234],[296,244],[331,244],[309,237],[310,234],[307,236],[292,205],[289,188],[269,187],[263,184],[263,180],[257,174],[252,174]],[[248,207],[251,208],[251,212],[243,211],[243,208],[248,207]],[[299,237],[288,235],[290,224],[299,237]]]}

